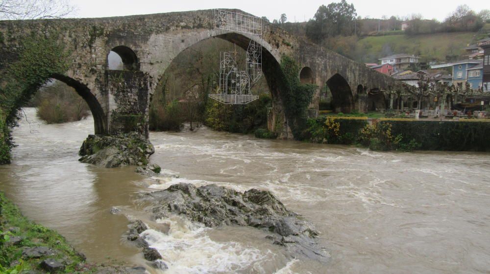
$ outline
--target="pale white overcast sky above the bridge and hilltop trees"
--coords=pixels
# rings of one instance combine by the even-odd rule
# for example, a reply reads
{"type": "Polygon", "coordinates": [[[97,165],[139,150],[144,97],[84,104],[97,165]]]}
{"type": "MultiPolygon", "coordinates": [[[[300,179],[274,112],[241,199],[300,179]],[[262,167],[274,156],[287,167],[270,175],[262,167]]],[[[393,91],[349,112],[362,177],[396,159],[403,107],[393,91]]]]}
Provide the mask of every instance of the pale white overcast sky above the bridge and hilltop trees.
{"type": "MultiPolygon", "coordinates": [[[[70,0],[78,8],[75,17],[110,17],[135,14],[164,13],[213,8],[238,8],[253,15],[266,16],[270,21],[279,19],[282,13],[288,21],[307,21],[318,7],[328,5],[320,0],[70,0]]],[[[336,0],[340,2],[340,0],[336,0]]],[[[347,0],[353,3],[361,17],[381,18],[408,16],[420,13],[425,19],[444,20],[459,4],[466,3],[476,12],[490,9],[490,1],[475,0],[347,0]]]]}

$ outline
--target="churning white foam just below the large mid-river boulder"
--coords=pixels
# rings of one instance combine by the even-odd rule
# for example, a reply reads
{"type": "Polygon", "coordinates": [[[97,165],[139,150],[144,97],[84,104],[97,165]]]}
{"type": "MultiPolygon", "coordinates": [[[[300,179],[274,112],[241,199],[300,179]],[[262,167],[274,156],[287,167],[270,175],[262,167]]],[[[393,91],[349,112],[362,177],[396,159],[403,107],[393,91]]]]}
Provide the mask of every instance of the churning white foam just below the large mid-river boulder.
{"type": "Polygon", "coordinates": [[[162,255],[168,274],[260,273],[261,263],[275,256],[242,243],[213,241],[207,235],[209,228],[178,216],[157,222],[169,225],[169,232],[148,229],[140,235],[162,255]]]}

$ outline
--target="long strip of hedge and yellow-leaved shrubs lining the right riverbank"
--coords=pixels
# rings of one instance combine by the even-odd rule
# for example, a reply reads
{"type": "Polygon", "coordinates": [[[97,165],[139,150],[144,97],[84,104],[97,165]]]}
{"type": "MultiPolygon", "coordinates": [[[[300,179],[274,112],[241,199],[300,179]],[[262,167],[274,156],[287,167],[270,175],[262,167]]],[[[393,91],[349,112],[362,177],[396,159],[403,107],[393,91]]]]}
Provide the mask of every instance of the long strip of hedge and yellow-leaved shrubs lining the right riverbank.
{"type": "Polygon", "coordinates": [[[311,143],[360,145],[371,150],[490,151],[489,122],[488,119],[319,117],[308,120],[301,139],[311,143]]]}

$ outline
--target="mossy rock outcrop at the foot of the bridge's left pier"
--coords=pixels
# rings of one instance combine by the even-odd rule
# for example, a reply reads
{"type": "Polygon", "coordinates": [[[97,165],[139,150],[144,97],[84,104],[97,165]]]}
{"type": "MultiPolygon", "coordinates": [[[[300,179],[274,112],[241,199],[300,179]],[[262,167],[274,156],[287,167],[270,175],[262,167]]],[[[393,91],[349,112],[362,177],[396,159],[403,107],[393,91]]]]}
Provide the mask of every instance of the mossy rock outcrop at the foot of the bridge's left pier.
{"type": "Polygon", "coordinates": [[[105,168],[146,166],[154,152],[153,145],[137,133],[89,135],[80,148],[79,161],[105,168]]]}

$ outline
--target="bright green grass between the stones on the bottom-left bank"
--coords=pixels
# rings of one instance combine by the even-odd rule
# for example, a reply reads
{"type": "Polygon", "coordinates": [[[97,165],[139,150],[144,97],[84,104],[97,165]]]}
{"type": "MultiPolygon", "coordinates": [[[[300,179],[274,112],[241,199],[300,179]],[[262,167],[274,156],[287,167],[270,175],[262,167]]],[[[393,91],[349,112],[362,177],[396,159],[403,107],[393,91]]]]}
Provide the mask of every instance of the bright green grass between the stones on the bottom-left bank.
{"type": "Polygon", "coordinates": [[[0,264],[2,266],[8,267],[10,263],[22,259],[25,270],[40,270],[39,264],[45,258],[22,258],[22,250],[25,247],[48,247],[57,251],[57,254],[53,256],[54,258],[67,262],[65,273],[88,273],[92,271],[92,266],[85,265],[83,268],[78,266],[84,262],[84,259],[66,242],[63,236],[25,218],[19,209],[5,198],[3,193],[0,193],[0,221],[0,231],[18,227],[20,230],[11,232],[10,236],[23,237],[20,246],[7,243],[0,244],[0,264]]]}

